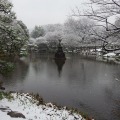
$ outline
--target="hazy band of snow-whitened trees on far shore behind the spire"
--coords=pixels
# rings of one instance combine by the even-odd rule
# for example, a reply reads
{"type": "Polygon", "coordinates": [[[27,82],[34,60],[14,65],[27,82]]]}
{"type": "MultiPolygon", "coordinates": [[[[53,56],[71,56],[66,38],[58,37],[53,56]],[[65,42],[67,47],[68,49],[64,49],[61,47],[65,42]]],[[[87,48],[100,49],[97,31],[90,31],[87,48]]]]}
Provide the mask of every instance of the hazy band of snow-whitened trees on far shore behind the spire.
{"type": "Polygon", "coordinates": [[[34,41],[36,43],[45,42],[49,47],[55,47],[58,44],[58,40],[62,39],[63,46],[72,49],[94,41],[92,34],[94,25],[95,22],[87,18],[75,20],[70,17],[64,24],[42,26],[45,31],[44,36],[40,36],[34,41]]]}

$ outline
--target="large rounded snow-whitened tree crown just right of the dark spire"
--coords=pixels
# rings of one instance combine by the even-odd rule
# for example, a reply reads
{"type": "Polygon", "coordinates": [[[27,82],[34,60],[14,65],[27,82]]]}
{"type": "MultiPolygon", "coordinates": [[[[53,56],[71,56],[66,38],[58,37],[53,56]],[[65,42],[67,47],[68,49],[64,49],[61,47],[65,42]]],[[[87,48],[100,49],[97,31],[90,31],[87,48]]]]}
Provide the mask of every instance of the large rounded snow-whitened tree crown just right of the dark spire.
{"type": "Polygon", "coordinates": [[[86,18],[75,20],[73,18],[68,19],[64,24],[65,34],[74,34],[75,39],[79,37],[79,42],[90,41],[92,28],[95,25],[93,21],[86,18]]]}

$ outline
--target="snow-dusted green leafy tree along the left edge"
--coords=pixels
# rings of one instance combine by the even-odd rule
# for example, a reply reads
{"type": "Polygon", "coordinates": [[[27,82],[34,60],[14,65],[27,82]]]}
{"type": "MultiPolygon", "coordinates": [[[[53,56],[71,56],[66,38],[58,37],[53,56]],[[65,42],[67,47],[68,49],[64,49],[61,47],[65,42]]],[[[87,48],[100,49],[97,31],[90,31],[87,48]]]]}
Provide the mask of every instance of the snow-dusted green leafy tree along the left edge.
{"type": "Polygon", "coordinates": [[[27,27],[16,19],[9,0],[0,0],[0,52],[19,54],[29,38],[27,27]]]}

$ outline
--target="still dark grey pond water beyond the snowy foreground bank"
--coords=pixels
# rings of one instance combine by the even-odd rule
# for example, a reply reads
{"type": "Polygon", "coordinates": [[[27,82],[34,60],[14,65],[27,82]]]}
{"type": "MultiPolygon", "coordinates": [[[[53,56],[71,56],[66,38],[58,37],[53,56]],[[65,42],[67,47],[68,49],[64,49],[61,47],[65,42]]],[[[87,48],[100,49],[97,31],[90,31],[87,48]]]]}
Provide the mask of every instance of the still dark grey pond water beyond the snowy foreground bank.
{"type": "Polygon", "coordinates": [[[3,79],[7,90],[39,93],[46,102],[77,108],[96,120],[120,120],[120,65],[31,55],[3,79]]]}

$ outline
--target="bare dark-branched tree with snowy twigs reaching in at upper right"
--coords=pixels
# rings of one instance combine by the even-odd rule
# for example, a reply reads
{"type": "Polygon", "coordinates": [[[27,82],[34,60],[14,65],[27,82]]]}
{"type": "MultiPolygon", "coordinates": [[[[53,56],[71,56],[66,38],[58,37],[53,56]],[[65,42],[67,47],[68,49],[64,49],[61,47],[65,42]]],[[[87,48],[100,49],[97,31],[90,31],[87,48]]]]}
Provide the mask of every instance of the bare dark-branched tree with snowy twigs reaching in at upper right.
{"type": "Polygon", "coordinates": [[[89,10],[83,13],[76,7],[76,10],[73,10],[72,16],[87,16],[90,19],[96,20],[98,24],[95,27],[102,27],[104,34],[101,36],[101,34],[93,30],[94,35],[103,41],[104,50],[118,50],[119,48],[107,49],[107,46],[112,43],[112,41],[108,40],[109,38],[113,37],[114,39],[117,37],[119,39],[120,26],[112,23],[109,19],[115,16],[118,17],[118,20],[120,19],[120,0],[90,0],[87,5],[90,8],[89,10]]]}

